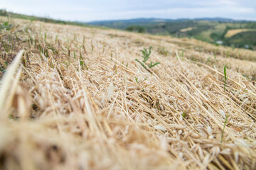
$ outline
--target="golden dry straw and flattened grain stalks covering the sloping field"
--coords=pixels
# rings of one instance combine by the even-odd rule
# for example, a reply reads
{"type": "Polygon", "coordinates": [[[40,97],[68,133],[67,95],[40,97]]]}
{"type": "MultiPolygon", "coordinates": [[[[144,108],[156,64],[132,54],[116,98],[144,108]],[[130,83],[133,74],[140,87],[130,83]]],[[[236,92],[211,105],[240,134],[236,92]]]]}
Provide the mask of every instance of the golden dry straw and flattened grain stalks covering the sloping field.
{"type": "Polygon", "coordinates": [[[256,169],[255,52],[13,26],[0,35],[0,169],[256,169]],[[149,46],[161,64],[146,70],[135,59],[149,46]]]}

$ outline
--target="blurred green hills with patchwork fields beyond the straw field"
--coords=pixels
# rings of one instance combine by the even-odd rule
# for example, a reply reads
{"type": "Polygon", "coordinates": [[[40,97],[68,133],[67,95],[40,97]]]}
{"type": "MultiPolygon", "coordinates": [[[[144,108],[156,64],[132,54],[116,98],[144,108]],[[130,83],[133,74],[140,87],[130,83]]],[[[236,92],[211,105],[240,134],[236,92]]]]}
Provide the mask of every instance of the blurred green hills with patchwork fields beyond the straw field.
{"type": "Polygon", "coordinates": [[[138,33],[171,35],[177,38],[196,38],[217,45],[243,47],[250,50],[255,50],[256,47],[255,21],[235,21],[227,18],[197,18],[193,20],[141,18],[120,21],[95,21],[88,24],[138,33]],[[240,35],[236,36],[237,33],[240,35]]]}

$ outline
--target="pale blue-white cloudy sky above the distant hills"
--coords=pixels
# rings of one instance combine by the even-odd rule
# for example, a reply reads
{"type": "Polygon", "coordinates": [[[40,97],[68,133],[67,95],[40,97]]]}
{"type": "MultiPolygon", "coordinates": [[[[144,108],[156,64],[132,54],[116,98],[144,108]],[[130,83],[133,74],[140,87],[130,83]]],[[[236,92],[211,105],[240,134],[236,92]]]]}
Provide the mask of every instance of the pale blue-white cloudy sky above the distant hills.
{"type": "Polygon", "coordinates": [[[0,0],[0,8],[67,21],[205,17],[256,21],[256,0],[0,0]]]}

